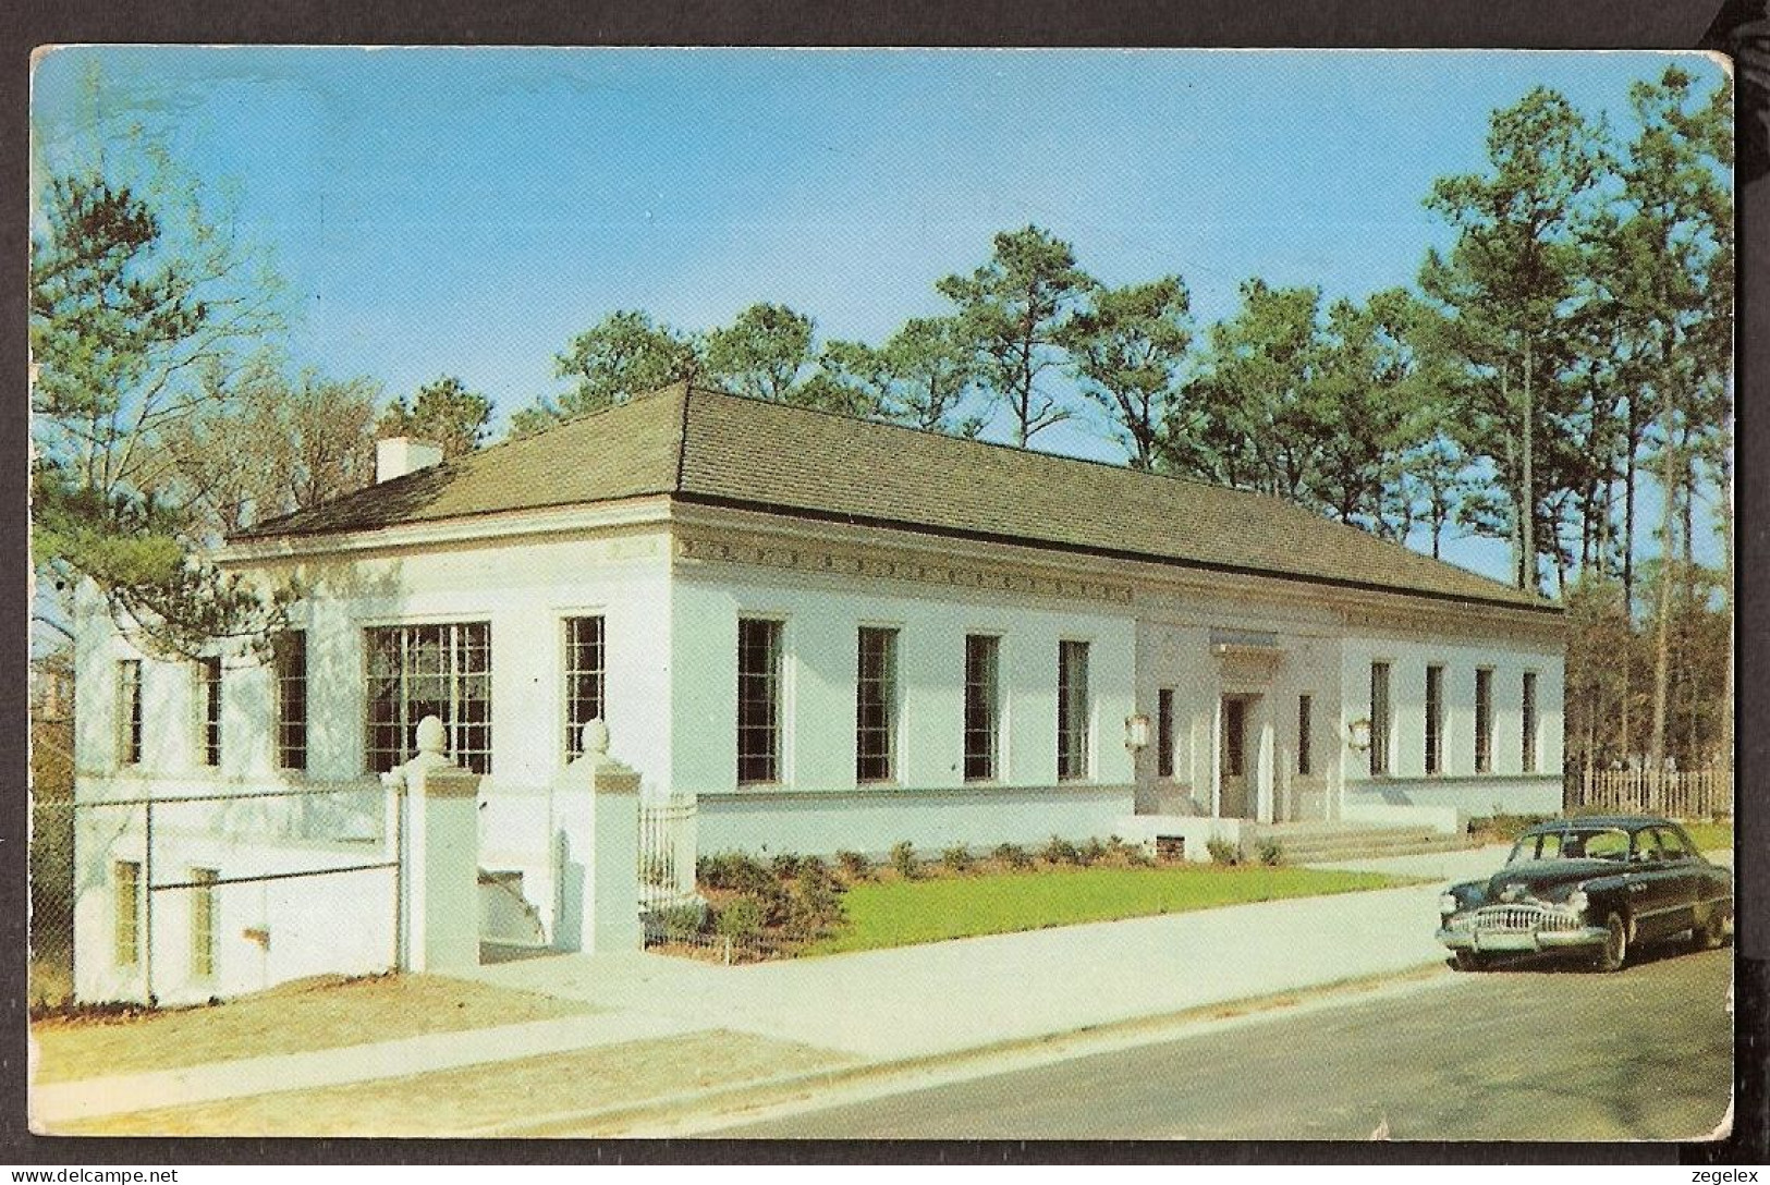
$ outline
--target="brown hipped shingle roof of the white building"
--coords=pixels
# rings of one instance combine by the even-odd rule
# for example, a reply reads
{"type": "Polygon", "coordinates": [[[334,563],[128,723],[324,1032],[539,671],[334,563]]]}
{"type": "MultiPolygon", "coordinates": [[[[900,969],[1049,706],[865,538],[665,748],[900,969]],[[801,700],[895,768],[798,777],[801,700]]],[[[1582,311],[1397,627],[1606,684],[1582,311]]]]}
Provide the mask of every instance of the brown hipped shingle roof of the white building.
{"type": "Polygon", "coordinates": [[[241,539],[667,495],[796,518],[1554,610],[1283,499],[674,386],[241,539]]]}

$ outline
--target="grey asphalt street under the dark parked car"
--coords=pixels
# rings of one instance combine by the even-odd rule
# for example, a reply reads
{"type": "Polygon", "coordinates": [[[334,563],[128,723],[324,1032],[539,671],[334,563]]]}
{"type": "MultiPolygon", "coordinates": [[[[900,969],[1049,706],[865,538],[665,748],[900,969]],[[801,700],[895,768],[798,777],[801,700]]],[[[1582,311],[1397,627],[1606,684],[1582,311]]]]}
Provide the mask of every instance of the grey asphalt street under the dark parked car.
{"type": "Polygon", "coordinates": [[[1515,962],[1384,1001],[701,1134],[1701,1139],[1731,1097],[1733,952],[1637,959],[1616,975],[1515,962]]]}

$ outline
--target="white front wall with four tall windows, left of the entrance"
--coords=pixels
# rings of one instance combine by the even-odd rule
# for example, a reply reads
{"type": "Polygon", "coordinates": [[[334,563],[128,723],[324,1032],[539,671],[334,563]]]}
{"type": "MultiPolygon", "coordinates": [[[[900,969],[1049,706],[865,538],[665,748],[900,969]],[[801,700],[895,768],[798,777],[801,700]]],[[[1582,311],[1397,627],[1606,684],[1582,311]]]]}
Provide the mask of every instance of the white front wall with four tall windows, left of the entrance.
{"type": "Polygon", "coordinates": [[[1112,833],[1129,814],[1133,711],[1129,607],[961,592],[908,580],[843,578],[743,564],[678,571],[671,785],[699,799],[703,852],[924,852],[954,844],[1043,842],[1112,833]],[[784,623],[782,776],[736,785],[740,617],[784,623]],[[855,778],[860,626],[897,635],[897,780],[855,778]],[[1002,776],[965,782],[965,635],[998,635],[1002,776]],[[1089,769],[1057,780],[1057,647],[1089,642],[1089,769]]]}

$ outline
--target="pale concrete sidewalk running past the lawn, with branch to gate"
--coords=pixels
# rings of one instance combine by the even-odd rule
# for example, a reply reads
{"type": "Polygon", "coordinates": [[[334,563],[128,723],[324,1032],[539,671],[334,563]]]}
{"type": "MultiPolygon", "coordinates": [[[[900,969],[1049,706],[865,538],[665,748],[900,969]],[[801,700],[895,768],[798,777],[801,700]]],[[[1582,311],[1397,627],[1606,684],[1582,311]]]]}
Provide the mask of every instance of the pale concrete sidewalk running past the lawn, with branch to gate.
{"type": "Polygon", "coordinates": [[[53,1128],[143,1104],[396,1079],[719,1029],[864,1063],[961,1054],[1443,962],[1432,939],[1443,883],[1503,860],[1503,849],[1480,849],[1359,861],[1434,879],[823,959],[724,967],[630,953],[483,966],[464,978],[581,999],[602,1012],[39,1086],[32,1121],[53,1128]]]}

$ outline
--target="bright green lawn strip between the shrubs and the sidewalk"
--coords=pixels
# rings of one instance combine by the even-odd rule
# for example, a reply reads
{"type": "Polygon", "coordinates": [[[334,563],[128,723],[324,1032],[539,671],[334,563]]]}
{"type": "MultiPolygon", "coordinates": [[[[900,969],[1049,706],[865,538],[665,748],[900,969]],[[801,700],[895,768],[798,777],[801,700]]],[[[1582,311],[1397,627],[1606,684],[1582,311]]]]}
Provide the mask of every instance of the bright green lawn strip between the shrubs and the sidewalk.
{"type": "Polygon", "coordinates": [[[1161,913],[1412,884],[1377,872],[1317,868],[1078,868],[927,881],[866,881],[843,898],[848,923],[807,955],[949,937],[1117,921],[1161,913]]]}

